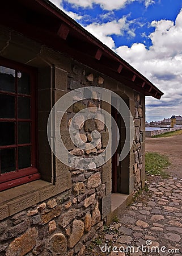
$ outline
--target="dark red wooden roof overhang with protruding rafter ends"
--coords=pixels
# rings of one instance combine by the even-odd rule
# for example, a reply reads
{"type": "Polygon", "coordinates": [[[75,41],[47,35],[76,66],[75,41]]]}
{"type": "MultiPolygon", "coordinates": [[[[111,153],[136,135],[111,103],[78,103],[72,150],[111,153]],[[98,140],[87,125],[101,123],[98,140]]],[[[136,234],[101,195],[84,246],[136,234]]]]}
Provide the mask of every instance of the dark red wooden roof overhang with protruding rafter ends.
{"type": "Polygon", "coordinates": [[[0,23],[157,99],[163,93],[115,52],[47,0],[1,2],[0,23]]]}

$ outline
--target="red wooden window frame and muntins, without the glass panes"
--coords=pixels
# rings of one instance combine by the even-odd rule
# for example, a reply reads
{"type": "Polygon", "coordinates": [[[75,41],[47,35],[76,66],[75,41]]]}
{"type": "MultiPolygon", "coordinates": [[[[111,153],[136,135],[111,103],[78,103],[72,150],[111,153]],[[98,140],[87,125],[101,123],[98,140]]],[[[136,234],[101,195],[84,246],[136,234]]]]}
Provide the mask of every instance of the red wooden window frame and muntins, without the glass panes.
{"type": "MultiPolygon", "coordinates": [[[[1,168],[0,168],[0,191],[3,191],[8,188],[15,187],[17,185],[25,184],[33,180],[40,179],[40,174],[37,169],[37,133],[36,133],[36,127],[37,127],[37,113],[36,113],[36,83],[37,83],[37,71],[35,68],[28,67],[27,65],[16,63],[15,61],[10,61],[4,58],[0,58],[0,66],[7,67],[14,69],[16,72],[25,72],[28,73],[30,76],[30,85],[31,85],[31,93],[29,96],[27,94],[18,93],[18,79],[15,78],[15,93],[12,92],[5,92],[0,91],[1,94],[6,95],[13,95],[15,96],[15,118],[0,118],[0,125],[1,122],[15,122],[15,144],[14,145],[6,145],[6,146],[0,146],[0,150],[4,148],[15,148],[16,153],[16,170],[6,172],[4,174],[1,174],[1,168]],[[30,98],[31,102],[31,116],[29,119],[20,119],[17,115],[17,100],[19,97],[26,97],[30,98]],[[24,143],[22,146],[31,146],[31,166],[28,168],[23,168],[18,170],[18,147],[21,147],[21,144],[18,144],[18,121],[23,122],[30,122],[31,123],[31,141],[30,143],[24,143]]],[[[0,134],[1,136],[2,134],[0,134]]],[[[1,162],[0,162],[1,163],[1,162]]]]}

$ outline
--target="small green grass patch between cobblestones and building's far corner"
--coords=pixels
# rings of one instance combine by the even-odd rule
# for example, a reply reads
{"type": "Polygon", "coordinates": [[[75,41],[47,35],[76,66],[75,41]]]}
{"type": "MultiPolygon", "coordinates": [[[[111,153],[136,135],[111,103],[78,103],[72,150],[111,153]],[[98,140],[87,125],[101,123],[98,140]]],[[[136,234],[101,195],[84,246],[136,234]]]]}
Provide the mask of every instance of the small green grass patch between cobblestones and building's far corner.
{"type": "Polygon", "coordinates": [[[165,155],[160,155],[156,152],[146,152],[145,154],[145,170],[149,175],[160,175],[163,178],[169,175],[165,169],[170,166],[170,161],[165,155]]]}

